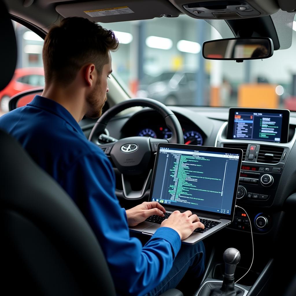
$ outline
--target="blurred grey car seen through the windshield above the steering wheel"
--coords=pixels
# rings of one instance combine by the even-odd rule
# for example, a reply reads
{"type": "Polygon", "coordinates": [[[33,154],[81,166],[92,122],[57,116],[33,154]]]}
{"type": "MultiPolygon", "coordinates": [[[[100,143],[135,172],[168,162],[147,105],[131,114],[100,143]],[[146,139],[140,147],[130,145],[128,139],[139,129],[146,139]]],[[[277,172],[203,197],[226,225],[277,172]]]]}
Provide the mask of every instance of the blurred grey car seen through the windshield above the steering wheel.
{"type": "Polygon", "coordinates": [[[166,105],[192,105],[196,92],[196,73],[163,72],[145,76],[139,84],[137,97],[147,97],[166,105]]]}

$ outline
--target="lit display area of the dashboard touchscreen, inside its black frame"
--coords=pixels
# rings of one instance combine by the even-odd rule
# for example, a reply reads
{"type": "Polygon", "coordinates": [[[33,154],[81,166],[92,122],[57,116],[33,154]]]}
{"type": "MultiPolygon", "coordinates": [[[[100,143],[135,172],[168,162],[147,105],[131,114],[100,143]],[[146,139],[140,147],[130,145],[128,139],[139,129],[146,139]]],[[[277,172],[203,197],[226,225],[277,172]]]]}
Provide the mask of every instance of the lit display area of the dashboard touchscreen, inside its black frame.
{"type": "Polygon", "coordinates": [[[281,142],[283,114],[235,112],[233,139],[281,142]]]}

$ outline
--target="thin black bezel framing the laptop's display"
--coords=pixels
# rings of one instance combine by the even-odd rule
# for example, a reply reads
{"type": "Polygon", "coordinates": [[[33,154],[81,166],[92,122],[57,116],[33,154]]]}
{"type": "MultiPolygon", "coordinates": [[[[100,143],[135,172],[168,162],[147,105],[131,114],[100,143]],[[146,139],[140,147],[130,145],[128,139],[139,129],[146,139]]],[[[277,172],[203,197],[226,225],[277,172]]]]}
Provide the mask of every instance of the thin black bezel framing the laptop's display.
{"type": "MultiPolygon", "coordinates": [[[[211,211],[205,211],[205,210],[199,210],[199,209],[194,209],[192,210],[193,212],[198,212],[201,214],[205,215],[215,215],[219,216],[221,218],[227,218],[231,219],[234,216],[234,207],[235,207],[235,202],[236,202],[236,197],[237,197],[237,188],[239,184],[239,175],[240,175],[240,169],[242,165],[242,155],[243,151],[242,149],[235,149],[235,148],[222,148],[222,147],[208,147],[208,146],[195,146],[195,145],[184,145],[184,144],[170,144],[170,143],[160,143],[158,144],[157,147],[157,153],[155,157],[155,164],[154,164],[154,169],[153,169],[153,176],[152,176],[152,183],[151,183],[151,189],[149,193],[149,201],[152,201],[152,193],[153,193],[153,186],[155,183],[155,176],[156,176],[156,165],[159,157],[159,152],[160,148],[177,148],[177,149],[184,149],[184,150],[195,150],[195,151],[206,151],[206,152],[220,152],[220,153],[233,153],[233,154],[238,154],[239,155],[239,162],[237,166],[237,174],[236,174],[236,179],[235,179],[235,187],[234,187],[234,193],[233,193],[233,198],[232,198],[232,205],[231,205],[231,212],[229,214],[222,214],[222,213],[215,213],[211,211]]],[[[188,207],[181,207],[181,206],[174,206],[171,204],[162,204],[164,207],[170,207],[173,209],[178,209],[178,210],[189,210],[188,207]]]]}

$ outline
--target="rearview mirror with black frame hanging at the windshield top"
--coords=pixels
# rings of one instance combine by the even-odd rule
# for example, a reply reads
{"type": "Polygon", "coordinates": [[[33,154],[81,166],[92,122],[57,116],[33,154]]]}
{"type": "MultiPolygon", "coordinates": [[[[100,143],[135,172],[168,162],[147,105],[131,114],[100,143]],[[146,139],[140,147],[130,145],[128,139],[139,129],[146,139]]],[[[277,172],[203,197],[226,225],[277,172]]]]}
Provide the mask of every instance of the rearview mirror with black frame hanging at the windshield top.
{"type": "Polygon", "coordinates": [[[266,59],[274,53],[270,38],[228,38],[204,42],[202,55],[205,59],[235,60],[266,59]]]}

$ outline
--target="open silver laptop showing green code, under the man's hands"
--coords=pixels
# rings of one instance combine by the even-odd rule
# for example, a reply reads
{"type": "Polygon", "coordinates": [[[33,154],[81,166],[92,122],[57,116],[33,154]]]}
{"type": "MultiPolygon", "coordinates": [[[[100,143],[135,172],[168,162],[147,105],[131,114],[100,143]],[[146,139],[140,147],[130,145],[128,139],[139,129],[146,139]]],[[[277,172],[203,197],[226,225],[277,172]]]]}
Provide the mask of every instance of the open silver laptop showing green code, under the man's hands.
{"type": "Polygon", "coordinates": [[[205,229],[196,229],[185,244],[195,244],[233,221],[242,150],[181,144],[158,144],[149,201],[166,210],[131,231],[153,235],[175,210],[197,214],[205,229]]]}

